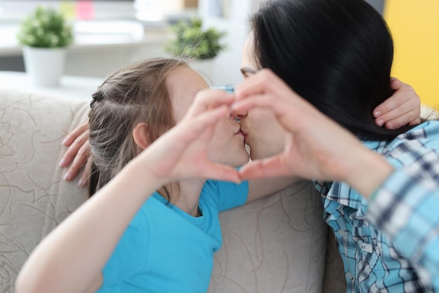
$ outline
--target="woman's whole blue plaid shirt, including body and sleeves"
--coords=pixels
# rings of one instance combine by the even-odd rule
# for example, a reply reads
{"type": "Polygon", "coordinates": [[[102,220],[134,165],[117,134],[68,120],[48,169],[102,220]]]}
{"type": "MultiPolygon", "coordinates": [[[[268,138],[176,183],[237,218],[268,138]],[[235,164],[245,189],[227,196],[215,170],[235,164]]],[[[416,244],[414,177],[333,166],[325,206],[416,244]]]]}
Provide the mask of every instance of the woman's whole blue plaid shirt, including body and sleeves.
{"type": "MultiPolygon", "coordinates": [[[[423,123],[391,142],[364,144],[382,154],[396,170],[410,166],[412,173],[417,175],[414,180],[426,177],[438,181],[439,121],[423,123]]],[[[430,245],[429,248],[433,243],[439,247],[438,237],[431,239],[432,230],[436,230],[436,236],[439,234],[439,200],[436,199],[435,204],[431,200],[428,206],[417,208],[419,203],[413,196],[401,196],[396,182],[401,180],[399,186],[403,185],[402,190],[407,189],[406,177],[401,174],[404,173],[395,172],[377,191],[371,204],[347,184],[316,182],[324,197],[325,221],[335,232],[342,255],[348,292],[434,292],[426,270],[435,267],[439,272],[439,250],[430,248],[435,258],[427,259],[423,254],[426,247],[421,245],[430,245]],[[395,199],[391,205],[390,193],[395,199]],[[396,204],[401,208],[397,209],[396,204]],[[419,214],[425,217],[420,220],[419,214]],[[429,216],[434,217],[431,222],[422,221],[430,219],[429,216]],[[407,222],[410,226],[402,225],[407,222]]],[[[416,186],[411,187],[417,192],[416,186]]],[[[430,196],[424,193],[424,198],[430,196]]]]}

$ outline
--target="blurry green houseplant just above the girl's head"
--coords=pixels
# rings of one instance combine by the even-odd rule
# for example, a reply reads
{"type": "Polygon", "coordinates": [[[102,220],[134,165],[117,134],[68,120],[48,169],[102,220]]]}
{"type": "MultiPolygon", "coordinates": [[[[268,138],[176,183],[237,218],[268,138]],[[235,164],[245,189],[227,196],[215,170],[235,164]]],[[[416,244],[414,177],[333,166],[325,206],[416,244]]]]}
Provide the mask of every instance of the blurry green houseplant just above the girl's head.
{"type": "Polygon", "coordinates": [[[194,61],[195,69],[212,76],[213,60],[226,48],[222,39],[226,32],[214,27],[203,28],[201,18],[180,21],[170,26],[174,37],[170,39],[165,50],[170,55],[194,61]]]}

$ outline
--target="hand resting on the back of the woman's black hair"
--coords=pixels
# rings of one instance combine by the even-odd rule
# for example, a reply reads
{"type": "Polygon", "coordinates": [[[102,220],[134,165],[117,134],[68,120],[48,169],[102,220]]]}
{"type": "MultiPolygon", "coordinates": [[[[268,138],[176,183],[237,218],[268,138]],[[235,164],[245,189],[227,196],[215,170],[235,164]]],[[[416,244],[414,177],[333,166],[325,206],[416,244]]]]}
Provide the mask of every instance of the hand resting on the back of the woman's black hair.
{"type": "Polygon", "coordinates": [[[394,77],[391,78],[391,88],[395,93],[373,111],[375,123],[389,129],[421,123],[421,100],[414,89],[394,77]]]}

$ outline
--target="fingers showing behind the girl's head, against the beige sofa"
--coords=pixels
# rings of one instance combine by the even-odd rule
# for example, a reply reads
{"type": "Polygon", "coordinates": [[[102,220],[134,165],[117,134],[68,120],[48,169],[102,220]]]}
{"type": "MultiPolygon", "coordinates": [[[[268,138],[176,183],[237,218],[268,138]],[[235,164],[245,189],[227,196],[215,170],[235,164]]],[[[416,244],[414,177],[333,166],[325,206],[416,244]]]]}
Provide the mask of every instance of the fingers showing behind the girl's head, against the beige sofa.
{"type": "Polygon", "coordinates": [[[85,122],[76,127],[67,137],[62,141],[62,144],[69,147],[60,161],[60,167],[67,167],[70,163],[69,170],[64,175],[66,181],[70,181],[78,175],[81,168],[84,167],[79,185],[86,184],[90,175],[90,145],[88,144],[88,137],[90,137],[90,130],[88,122],[85,122]]]}

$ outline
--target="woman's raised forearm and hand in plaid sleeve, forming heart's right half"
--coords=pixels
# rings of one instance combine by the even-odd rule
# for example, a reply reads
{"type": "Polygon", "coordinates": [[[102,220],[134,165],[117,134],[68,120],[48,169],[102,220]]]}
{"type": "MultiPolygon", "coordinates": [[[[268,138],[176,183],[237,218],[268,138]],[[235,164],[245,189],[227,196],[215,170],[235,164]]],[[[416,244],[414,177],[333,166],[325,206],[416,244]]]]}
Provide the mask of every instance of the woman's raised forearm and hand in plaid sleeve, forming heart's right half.
{"type": "MultiPolygon", "coordinates": [[[[285,139],[281,154],[245,165],[241,178],[297,175],[350,184],[368,200],[367,219],[439,289],[437,175],[419,172],[422,161],[395,170],[383,156],[367,149],[357,137],[292,92],[269,69],[250,77],[238,91],[245,100],[236,102],[234,111],[270,109],[290,138],[285,139]],[[340,143],[328,144],[328,139],[340,143]],[[422,224],[419,219],[423,219],[422,224]]],[[[428,165],[438,173],[439,156],[429,156],[428,165]]]]}

